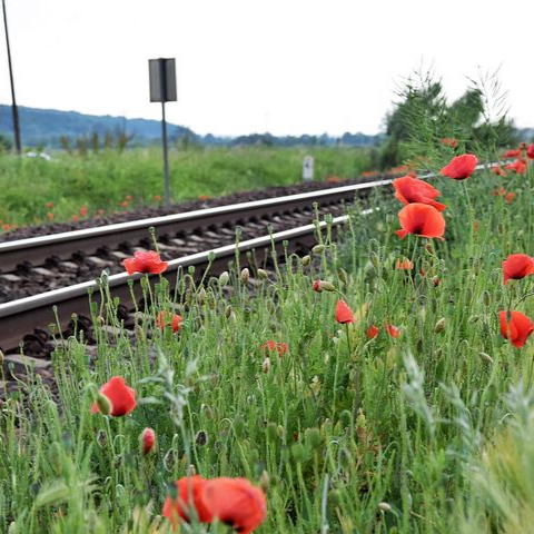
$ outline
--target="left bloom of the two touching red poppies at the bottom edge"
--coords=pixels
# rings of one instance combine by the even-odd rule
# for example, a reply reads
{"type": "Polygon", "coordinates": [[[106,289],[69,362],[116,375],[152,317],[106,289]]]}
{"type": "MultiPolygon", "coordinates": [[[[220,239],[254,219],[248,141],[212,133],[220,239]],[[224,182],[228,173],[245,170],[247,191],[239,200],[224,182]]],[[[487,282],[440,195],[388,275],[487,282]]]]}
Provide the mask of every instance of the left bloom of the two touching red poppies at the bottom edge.
{"type": "Polygon", "coordinates": [[[206,505],[204,493],[208,481],[201,476],[185,476],[176,481],[178,493],[176,498],[167,497],[161,512],[176,528],[180,522],[189,523],[189,518],[194,515],[192,508],[200,523],[210,523],[214,515],[206,505]]]}

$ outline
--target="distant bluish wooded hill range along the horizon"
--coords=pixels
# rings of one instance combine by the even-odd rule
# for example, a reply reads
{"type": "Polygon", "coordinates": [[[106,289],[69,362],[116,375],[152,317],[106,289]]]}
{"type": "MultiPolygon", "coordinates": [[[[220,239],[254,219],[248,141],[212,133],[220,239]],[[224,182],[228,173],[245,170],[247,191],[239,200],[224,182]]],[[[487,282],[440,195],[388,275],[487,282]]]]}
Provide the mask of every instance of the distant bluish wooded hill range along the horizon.
{"type": "MultiPolygon", "coordinates": [[[[55,109],[38,109],[19,106],[19,121],[22,145],[24,147],[59,147],[60,138],[67,137],[71,141],[80,138],[90,138],[95,132],[100,139],[106,134],[123,134],[132,136],[129,146],[146,146],[159,142],[161,139],[161,122],[159,120],[127,119],[83,115],[77,111],[58,111],[55,109]]],[[[207,145],[207,146],[237,146],[237,145],[265,145],[265,146],[373,146],[378,145],[383,136],[367,136],[365,134],[344,134],[340,138],[322,136],[285,136],[276,137],[270,134],[254,134],[236,138],[217,137],[211,134],[199,136],[189,128],[178,125],[168,125],[168,136],[171,142],[207,145]]],[[[0,105],[0,136],[13,137],[11,107],[0,105]]]]}

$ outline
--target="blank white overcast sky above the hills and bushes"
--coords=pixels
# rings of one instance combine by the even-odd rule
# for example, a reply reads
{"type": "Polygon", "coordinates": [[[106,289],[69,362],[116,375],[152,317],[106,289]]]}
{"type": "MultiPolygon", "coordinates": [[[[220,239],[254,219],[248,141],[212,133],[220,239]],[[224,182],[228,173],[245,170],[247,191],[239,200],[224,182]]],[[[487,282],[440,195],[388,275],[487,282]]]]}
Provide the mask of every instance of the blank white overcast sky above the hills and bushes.
{"type": "MultiPolygon", "coordinates": [[[[160,119],[148,59],[176,58],[167,120],[198,134],[376,134],[433,66],[449,98],[493,73],[534,126],[534,1],[6,0],[17,102],[160,119]]],[[[2,21],[3,22],[3,21],[2,21]]],[[[11,103],[3,27],[0,103],[11,103]]]]}

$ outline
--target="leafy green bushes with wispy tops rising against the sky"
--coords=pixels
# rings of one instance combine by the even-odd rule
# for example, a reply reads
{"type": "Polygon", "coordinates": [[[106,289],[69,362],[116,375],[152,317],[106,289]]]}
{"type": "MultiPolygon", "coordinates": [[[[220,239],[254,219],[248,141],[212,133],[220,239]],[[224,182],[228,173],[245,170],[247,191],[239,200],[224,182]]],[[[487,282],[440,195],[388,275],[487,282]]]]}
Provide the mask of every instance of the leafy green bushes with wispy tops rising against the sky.
{"type": "Polygon", "coordinates": [[[416,79],[408,79],[398,97],[395,109],[386,116],[383,169],[406,160],[427,167],[442,158],[443,139],[455,139],[462,150],[481,159],[495,158],[498,148],[517,142],[497,73],[471,80],[465,93],[448,103],[442,82],[435,81],[432,72],[416,72],[416,79]]]}

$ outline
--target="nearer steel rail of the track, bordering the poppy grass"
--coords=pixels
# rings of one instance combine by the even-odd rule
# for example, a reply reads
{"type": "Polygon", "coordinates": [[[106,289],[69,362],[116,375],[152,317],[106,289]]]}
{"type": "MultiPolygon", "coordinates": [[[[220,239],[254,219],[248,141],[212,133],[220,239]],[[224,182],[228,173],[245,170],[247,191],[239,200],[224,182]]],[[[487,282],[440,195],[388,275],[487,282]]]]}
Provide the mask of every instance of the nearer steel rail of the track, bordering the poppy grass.
{"type": "MultiPolygon", "coordinates": [[[[370,211],[370,209],[367,209],[363,212],[370,211]]],[[[332,226],[343,225],[347,219],[348,216],[335,217],[332,226]]],[[[320,228],[325,228],[325,221],[319,222],[320,228]]],[[[218,275],[228,268],[228,264],[236,258],[236,254],[243,259],[246,258],[248,251],[254,250],[256,259],[259,258],[260,261],[264,261],[270,258],[273,249],[279,255],[285,251],[309,250],[317,243],[316,233],[316,225],[312,224],[248,239],[239,244],[226,245],[209,251],[170,260],[167,270],[161,275],[128,275],[127,273],[110,275],[107,277],[107,286],[112,297],[118,297],[120,304],[132,308],[135,305],[132,294],[136,299],[140,299],[142,295],[140,284],[131,284],[131,281],[138,281],[145,276],[149,277],[151,284],[157,283],[159,276],[169,280],[170,284],[176,284],[178,274],[182,269],[194,266],[196,268],[195,276],[199,278],[204,275],[208,265],[209,273],[218,275]],[[287,241],[287,248],[285,248],[285,241],[287,241]],[[215,259],[212,259],[214,257],[215,259]]],[[[4,352],[17,348],[21,336],[29,333],[28,325],[31,329],[47,329],[50,324],[58,325],[59,323],[59,328],[65,329],[71,320],[72,314],[89,317],[89,294],[92,301],[100,304],[100,287],[101,283],[92,280],[0,304],[0,348],[4,352]],[[24,328],[23,334],[22,328],[24,328]]]]}

